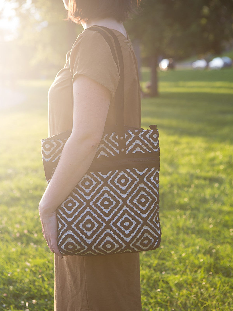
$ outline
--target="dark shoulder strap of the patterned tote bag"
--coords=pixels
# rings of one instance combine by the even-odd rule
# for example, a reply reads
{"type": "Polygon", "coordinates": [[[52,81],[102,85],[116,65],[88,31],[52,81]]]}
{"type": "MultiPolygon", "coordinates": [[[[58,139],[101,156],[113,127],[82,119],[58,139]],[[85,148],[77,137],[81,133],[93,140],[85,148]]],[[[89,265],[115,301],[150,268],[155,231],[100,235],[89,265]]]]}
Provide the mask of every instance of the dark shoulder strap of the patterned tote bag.
{"type": "Polygon", "coordinates": [[[115,103],[117,103],[116,108],[116,114],[117,114],[117,136],[118,136],[118,144],[119,144],[119,153],[125,153],[126,152],[126,142],[125,142],[125,130],[124,130],[124,92],[125,92],[125,73],[124,73],[124,61],[123,61],[123,55],[121,51],[121,45],[117,38],[117,36],[114,34],[114,32],[104,26],[91,26],[87,28],[87,30],[94,30],[98,31],[107,44],[109,45],[112,53],[112,57],[114,59],[114,62],[117,64],[118,72],[120,76],[120,81],[117,86],[117,90],[115,93],[115,103]],[[112,43],[112,40],[107,35],[107,33],[112,37],[114,40],[115,47],[112,43]],[[117,55],[115,52],[115,48],[117,51],[117,55]],[[118,58],[118,61],[117,61],[118,58]],[[119,66],[118,66],[119,62],[119,66]]]}

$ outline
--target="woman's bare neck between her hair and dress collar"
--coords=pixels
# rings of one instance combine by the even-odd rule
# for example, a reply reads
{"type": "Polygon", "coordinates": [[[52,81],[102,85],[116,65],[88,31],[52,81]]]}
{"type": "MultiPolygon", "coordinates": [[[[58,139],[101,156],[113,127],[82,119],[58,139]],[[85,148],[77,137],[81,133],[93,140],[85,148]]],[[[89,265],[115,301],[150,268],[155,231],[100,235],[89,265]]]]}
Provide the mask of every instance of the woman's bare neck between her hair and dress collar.
{"type": "Polygon", "coordinates": [[[110,29],[115,29],[121,32],[125,37],[127,37],[127,33],[123,24],[114,18],[102,18],[102,19],[92,19],[89,20],[87,23],[82,23],[83,29],[86,29],[90,26],[97,25],[97,26],[104,26],[110,29]]]}

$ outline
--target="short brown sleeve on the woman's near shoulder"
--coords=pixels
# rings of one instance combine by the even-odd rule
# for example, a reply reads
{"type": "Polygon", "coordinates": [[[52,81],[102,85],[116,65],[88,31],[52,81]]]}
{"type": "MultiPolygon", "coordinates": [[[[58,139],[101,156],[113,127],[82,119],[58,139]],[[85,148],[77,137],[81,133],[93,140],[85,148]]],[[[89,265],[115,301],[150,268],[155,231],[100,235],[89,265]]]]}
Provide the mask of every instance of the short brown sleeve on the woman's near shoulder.
{"type": "Polygon", "coordinates": [[[77,75],[85,75],[107,87],[114,96],[120,76],[111,49],[98,31],[84,30],[70,52],[72,83],[77,75]]]}

